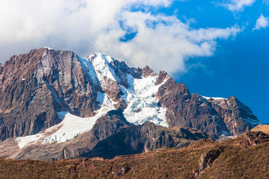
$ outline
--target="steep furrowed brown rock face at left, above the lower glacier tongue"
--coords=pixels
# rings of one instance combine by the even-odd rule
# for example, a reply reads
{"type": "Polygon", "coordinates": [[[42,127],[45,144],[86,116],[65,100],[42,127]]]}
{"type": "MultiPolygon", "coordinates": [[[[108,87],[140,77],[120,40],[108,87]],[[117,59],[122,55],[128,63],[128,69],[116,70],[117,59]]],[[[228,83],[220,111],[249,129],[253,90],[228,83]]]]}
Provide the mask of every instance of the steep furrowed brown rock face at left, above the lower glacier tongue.
{"type": "Polygon", "coordinates": [[[12,56],[0,81],[2,140],[58,124],[58,111],[91,116],[96,108],[90,81],[72,52],[42,48],[12,56]]]}

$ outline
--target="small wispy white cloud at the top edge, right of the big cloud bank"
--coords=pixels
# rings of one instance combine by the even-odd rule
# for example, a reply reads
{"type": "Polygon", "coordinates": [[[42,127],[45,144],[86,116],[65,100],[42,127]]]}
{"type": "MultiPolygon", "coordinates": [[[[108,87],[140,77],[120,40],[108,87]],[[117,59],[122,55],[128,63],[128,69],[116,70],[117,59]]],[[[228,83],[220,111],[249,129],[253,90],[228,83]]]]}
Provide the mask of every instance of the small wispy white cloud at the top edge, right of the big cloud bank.
{"type": "Polygon", "coordinates": [[[218,6],[223,6],[232,12],[244,11],[244,7],[252,6],[256,0],[226,0],[217,3],[218,6]]]}

